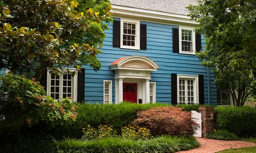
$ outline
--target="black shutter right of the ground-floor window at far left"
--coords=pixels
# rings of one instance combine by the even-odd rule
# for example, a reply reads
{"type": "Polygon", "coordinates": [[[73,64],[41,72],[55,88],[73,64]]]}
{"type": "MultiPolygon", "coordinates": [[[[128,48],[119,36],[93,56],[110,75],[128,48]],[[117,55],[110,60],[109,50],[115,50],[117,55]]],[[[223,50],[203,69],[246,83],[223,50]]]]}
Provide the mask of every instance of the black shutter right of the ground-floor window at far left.
{"type": "Polygon", "coordinates": [[[77,72],[77,102],[84,100],[84,71],[85,69],[82,68],[77,72]]]}

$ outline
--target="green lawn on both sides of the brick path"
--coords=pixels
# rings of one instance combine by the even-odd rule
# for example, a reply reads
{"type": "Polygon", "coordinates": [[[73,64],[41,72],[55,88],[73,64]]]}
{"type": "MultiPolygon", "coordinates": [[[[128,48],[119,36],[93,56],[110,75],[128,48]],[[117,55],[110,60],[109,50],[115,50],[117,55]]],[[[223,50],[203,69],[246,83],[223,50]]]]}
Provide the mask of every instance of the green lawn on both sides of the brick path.
{"type": "MultiPolygon", "coordinates": [[[[256,137],[242,138],[241,140],[256,143],[256,137]]],[[[246,148],[235,148],[235,149],[228,149],[228,150],[220,151],[220,153],[230,153],[230,152],[256,152],[256,146],[255,147],[246,147],[246,148]]]]}

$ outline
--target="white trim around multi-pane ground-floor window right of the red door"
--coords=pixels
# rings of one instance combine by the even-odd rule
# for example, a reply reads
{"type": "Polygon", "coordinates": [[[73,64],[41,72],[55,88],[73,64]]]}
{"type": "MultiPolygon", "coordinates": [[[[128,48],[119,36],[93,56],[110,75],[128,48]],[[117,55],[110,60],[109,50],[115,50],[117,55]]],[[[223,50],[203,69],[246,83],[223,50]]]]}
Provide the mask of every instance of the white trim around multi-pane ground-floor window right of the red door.
{"type": "MultiPolygon", "coordinates": [[[[198,75],[183,75],[183,74],[177,74],[177,101],[179,104],[179,97],[180,97],[180,92],[179,92],[179,80],[180,79],[191,79],[195,80],[194,84],[194,104],[199,104],[199,86],[198,86],[198,75]]],[[[186,88],[186,87],[185,87],[186,88]]],[[[187,91],[187,90],[185,90],[187,91]]],[[[185,94],[186,95],[186,94],[185,94]]],[[[186,102],[187,103],[187,102],[186,102]]]]}

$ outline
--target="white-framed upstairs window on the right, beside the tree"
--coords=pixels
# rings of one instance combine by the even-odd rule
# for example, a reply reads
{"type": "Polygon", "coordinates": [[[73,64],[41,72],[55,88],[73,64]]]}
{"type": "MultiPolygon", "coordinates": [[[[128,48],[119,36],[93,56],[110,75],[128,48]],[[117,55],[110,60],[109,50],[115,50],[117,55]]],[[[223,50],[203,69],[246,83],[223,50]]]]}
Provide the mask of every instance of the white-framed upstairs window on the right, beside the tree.
{"type": "Polygon", "coordinates": [[[183,54],[196,54],[196,35],[193,28],[179,27],[179,50],[183,54]]]}

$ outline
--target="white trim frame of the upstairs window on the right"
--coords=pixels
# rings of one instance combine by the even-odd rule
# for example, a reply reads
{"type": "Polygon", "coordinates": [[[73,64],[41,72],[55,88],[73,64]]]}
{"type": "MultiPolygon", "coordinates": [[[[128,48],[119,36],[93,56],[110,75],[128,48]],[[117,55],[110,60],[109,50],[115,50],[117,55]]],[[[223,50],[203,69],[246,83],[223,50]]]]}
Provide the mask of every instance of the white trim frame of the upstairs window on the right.
{"type": "Polygon", "coordinates": [[[191,28],[191,27],[180,27],[179,26],[179,50],[180,50],[180,54],[190,54],[190,55],[196,55],[196,52],[195,52],[195,50],[196,50],[196,34],[195,34],[195,32],[194,32],[194,29],[195,28],[191,28]],[[193,50],[193,52],[185,52],[185,51],[182,51],[181,49],[182,49],[182,47],[181,47],[181,45],[182,45],[182,37],[181,37],[181,30],[189,30],[189,31],[192,31],[192,50],[193,50]]]}

